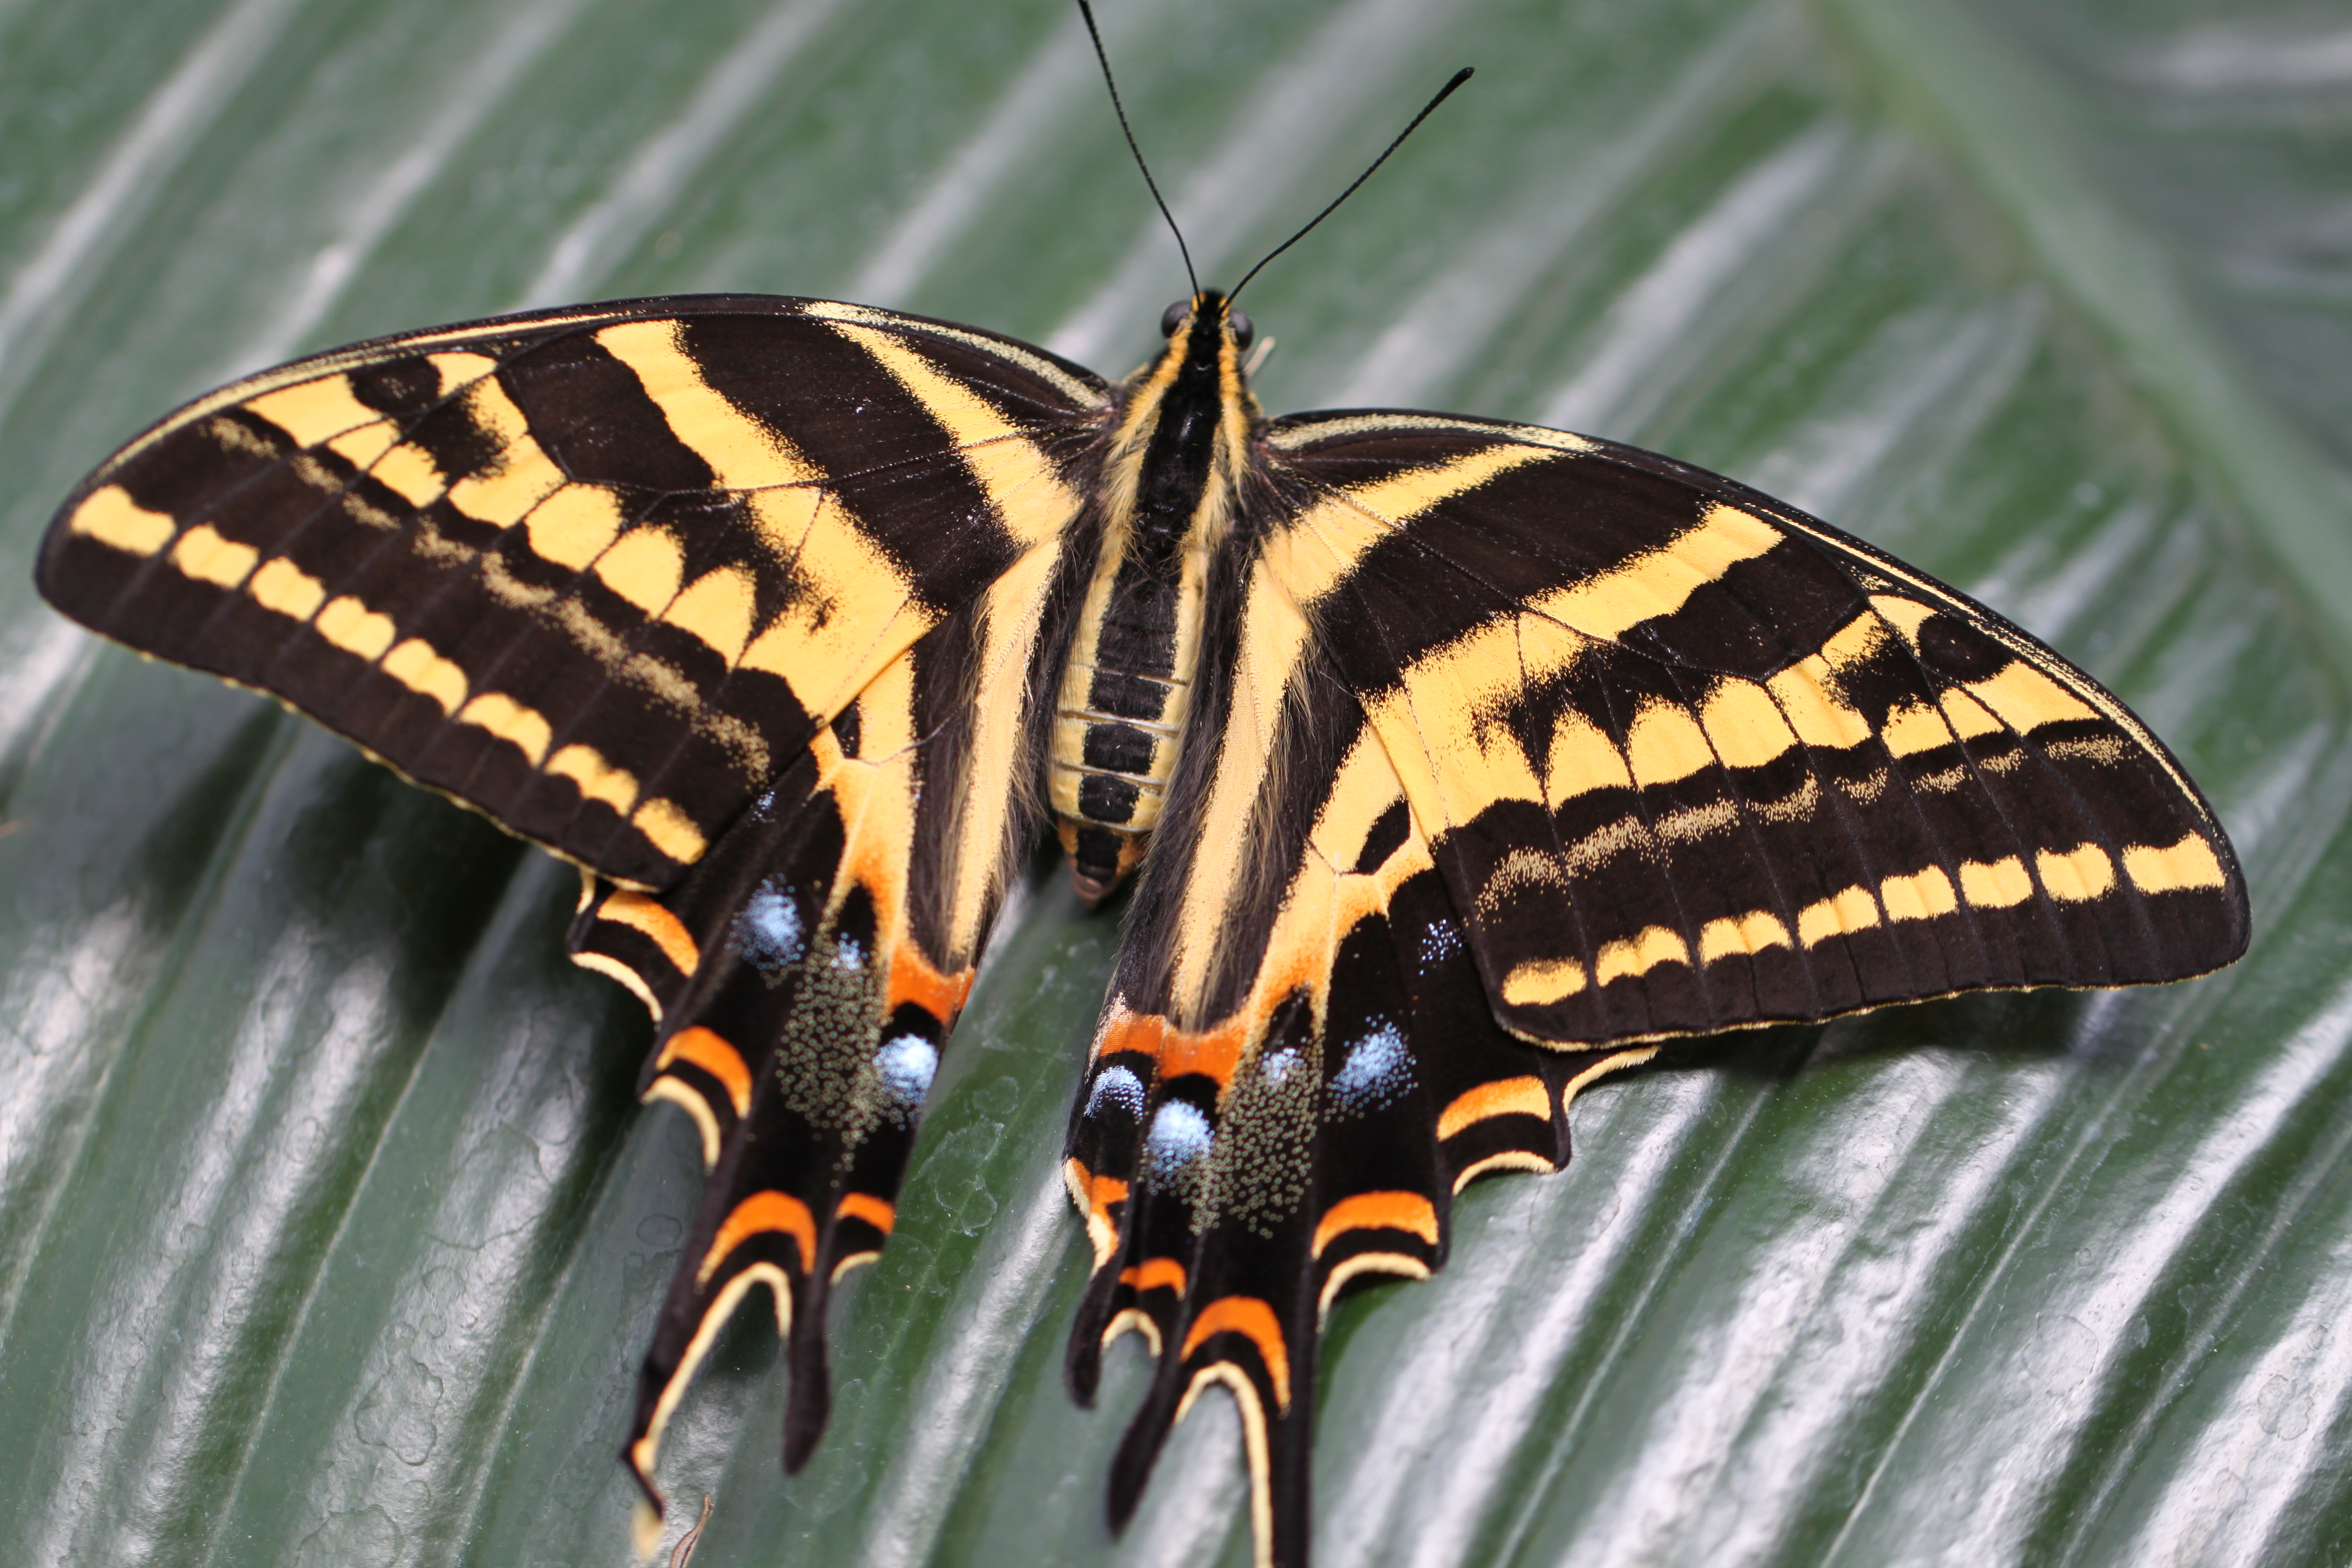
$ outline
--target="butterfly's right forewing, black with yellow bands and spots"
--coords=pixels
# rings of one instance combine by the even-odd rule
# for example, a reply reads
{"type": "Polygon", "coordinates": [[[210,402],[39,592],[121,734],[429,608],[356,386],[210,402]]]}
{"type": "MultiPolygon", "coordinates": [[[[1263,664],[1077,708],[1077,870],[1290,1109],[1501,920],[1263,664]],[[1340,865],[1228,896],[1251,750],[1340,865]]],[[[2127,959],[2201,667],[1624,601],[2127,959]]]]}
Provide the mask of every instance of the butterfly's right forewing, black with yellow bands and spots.
{"type": "Polygon", "coordinates": [[[1496,1018],[1543,1041],[2246,947],[2237,860],[2082,670],[1860,541],[1670,458],[1317,416],[1265,543],[1378,731],[1496,1018]]]}

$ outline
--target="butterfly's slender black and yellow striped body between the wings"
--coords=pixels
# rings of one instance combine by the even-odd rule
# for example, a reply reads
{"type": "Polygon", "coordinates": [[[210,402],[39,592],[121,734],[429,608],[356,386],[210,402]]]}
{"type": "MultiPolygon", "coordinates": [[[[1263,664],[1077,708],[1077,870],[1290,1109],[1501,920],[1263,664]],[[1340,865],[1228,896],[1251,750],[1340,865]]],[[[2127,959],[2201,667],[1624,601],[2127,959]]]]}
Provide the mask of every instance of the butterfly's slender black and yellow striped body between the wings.
{"type": "Polygon", "coordinates": [[[1225,299],[1202,292],[1127,383],[1103,458],[1103,534],[1054,710],[1049,799],[1089,903],[1143,858],[1176,771],[1209,562],[1261,418],[1225,299]]]}

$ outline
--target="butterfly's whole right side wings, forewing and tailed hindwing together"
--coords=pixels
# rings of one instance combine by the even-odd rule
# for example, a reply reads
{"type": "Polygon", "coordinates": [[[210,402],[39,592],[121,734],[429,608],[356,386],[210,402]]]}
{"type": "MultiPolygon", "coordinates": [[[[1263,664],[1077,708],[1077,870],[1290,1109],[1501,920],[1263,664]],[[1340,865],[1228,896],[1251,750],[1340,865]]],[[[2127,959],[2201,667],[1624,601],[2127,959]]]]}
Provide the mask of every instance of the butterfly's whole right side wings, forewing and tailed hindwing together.
{"type": "Polygon", "coordinates": [[[1112,1472],[1235,1392],[1308,1540],[1324,1312],[1442,1265],[1656,1039],[2246,945],[2211,811],[2110,693],[1729,480],[1430,414],[1277,421],[1073,1114],[1070,1342],[1160,1371],[1112,1472]],[[1249,853],[1232,853],[1235,844],[1249,853]]]}

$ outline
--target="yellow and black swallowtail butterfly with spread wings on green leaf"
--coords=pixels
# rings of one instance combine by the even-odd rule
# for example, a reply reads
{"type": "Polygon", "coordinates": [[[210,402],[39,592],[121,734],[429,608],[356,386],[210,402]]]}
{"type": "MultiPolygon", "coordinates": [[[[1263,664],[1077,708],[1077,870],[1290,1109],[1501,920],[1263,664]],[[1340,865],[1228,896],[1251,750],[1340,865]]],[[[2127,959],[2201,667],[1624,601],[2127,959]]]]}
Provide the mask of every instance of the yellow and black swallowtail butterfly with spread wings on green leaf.
{"type": "Polygon", "coordinates": [[[1070,1387],[1155,1356],[1110,1516],[1221,1385],[1284,1568],[1334,1300],[1557,1171],[1602,1074],[2246,947],[2180,764],[1990,609],[1616,442],[1268,418],[1221,292],[1162,329],[1117,383],[814,299],[397,334],[191,402],[42,543],[68,616],[581,867],[572,952],[652,1011],[642,1095],[708,1171],[626,1441],[656,1509],[757,1286],[786,1467],[816,1446],[830,1291],[1047,823],[1084,898],[1131,889],[1063,1166],[1070,1387]]]}

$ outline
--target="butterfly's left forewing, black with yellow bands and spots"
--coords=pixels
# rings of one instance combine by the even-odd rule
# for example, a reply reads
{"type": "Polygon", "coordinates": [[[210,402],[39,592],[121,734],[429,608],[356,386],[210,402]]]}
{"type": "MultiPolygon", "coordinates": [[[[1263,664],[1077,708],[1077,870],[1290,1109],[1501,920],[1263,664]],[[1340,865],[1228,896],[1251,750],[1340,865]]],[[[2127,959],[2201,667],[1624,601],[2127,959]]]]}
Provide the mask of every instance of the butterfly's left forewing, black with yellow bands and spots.
{"type": "Polygon", "coordinates": [[[828,301],[405,334],[172,414],[66,501],[38,576],[659,889],[1058,538],[1105,397],[1011,339],[828,301]]]}

